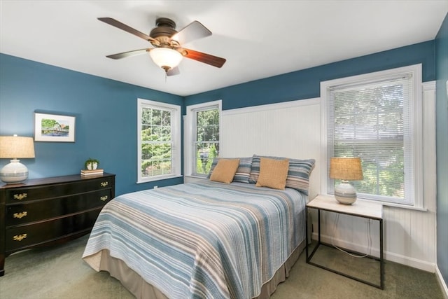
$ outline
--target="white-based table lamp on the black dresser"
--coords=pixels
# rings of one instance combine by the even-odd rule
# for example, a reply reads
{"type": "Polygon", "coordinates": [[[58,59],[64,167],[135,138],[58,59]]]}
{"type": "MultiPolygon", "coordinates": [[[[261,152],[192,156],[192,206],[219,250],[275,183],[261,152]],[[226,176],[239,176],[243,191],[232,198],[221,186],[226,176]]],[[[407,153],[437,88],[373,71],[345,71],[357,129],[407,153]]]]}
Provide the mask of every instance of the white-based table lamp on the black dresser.
{"type": "Polygon", "coordinates": [[[17,158],[34,158],[32,137],[0,136],[0,158],[12,158],[0,170],[0,179],[5,183],[20,183],[28,179],[28,168],[17,158]]]}

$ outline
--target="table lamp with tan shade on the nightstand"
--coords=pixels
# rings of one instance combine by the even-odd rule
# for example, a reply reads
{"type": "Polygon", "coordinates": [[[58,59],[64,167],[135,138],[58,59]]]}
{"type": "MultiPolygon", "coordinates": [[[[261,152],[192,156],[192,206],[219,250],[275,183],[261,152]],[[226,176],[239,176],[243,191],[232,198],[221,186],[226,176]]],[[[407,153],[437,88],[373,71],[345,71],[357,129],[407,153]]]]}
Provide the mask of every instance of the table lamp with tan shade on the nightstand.
{"type": "Polygon", "coordinates": [[[336,200],[342,204],[353,204],[356,202],[356,189],[349,181],[363,179],[360,158],[330,158],[330,178],[342,180],[335,186],[336,200]]]}

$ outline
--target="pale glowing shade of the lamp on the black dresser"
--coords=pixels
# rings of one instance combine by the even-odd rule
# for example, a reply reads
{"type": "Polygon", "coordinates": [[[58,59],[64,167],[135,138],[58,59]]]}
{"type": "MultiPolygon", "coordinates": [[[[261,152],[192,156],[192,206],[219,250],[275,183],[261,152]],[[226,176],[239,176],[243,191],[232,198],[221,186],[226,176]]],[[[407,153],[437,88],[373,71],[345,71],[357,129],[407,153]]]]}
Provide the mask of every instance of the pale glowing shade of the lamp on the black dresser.
{"type": "Polygon", "coordinates": [[[0,158],[34,158],[33,138],[0,136],[0,158]]]}

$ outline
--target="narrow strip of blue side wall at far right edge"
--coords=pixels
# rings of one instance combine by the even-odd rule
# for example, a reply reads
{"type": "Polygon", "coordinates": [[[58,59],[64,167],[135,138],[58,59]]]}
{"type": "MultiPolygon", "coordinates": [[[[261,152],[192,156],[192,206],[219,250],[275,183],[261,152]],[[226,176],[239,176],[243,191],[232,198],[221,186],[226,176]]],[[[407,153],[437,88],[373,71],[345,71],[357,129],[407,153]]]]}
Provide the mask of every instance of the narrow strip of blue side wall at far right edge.
{"type": "Polygon", "coordinates": [[[448,285],[448,14],[435,38],[437,140],[437,266],[448,285]]]}

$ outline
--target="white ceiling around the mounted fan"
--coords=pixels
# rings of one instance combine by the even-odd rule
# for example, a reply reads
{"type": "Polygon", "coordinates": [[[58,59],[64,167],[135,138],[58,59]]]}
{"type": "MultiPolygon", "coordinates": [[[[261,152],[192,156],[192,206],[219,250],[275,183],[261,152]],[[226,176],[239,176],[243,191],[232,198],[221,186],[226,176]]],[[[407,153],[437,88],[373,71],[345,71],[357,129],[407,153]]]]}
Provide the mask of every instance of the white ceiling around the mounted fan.
{"type": "Polygon", "coordinates": [[[0,52],[86,74],[194,95],[435,38],[448,0],[411,1],[0,1],[0,52]],[[106,55],[149,43],[97,18],[149,34],[155,19],[178,31],[194,20],[212,36],[184,45],[224,57],[221,69],[190,59],[165,78],[149,55],[106,55]]]}

